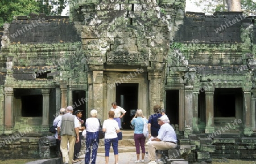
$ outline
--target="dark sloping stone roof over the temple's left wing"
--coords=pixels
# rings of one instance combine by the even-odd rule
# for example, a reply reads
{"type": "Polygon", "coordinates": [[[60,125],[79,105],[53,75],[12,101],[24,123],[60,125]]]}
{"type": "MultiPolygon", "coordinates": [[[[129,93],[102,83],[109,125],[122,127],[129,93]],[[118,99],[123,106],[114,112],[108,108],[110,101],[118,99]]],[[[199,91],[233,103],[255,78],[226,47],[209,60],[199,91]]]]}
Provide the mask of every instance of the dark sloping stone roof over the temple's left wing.
{"type": "Polygon", "coordinates": [[[81,41],[68,16],[17,16],[9,27],[11,43],[40,44],[81,41]]]}

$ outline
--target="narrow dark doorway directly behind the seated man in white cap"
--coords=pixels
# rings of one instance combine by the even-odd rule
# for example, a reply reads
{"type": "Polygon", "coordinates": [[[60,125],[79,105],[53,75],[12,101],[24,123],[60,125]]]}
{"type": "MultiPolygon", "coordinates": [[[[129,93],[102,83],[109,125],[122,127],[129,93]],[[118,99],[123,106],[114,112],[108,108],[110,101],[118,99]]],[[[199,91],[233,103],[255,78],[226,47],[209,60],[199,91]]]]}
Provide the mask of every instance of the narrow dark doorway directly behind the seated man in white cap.
{"type": "Polygon", "coordinates": [[[166,90],[166,115],[170,124],[179,124],[179,90],[166,90]]]}

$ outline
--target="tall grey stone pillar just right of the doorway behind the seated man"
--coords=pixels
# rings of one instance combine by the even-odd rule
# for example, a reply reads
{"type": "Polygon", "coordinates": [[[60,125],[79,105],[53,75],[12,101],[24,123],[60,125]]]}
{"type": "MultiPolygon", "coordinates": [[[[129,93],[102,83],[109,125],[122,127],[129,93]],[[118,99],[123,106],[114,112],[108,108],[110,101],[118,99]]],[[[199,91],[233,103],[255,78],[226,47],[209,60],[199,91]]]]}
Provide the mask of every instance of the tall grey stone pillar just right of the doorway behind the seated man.
{"type": "Polygon", "coordinates": [[[185,130],[184,136],[188,138],[192,131],[192,120],[193,120],[193,95],[191,90],[185,90],[184,99],[184,123],[185,130]]]}

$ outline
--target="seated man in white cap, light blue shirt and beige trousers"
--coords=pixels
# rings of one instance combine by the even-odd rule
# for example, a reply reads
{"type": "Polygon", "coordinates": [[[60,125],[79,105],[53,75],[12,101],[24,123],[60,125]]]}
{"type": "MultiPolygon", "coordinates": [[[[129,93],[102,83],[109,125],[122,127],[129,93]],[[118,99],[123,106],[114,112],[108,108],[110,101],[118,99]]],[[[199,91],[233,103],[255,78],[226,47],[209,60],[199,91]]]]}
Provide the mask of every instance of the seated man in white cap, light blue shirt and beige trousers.
{"type": "Polygon", "coordinates": [[[169,122],[167,115],[158,119],[158,124],[161,126],[158,136],[148,142],[148,161],[150,164],[163,163],[160,160],[161,154],[158,154],[158,159],[156,159],[155,150],[168,150],[177,146],[177,136],[169,122]]]}

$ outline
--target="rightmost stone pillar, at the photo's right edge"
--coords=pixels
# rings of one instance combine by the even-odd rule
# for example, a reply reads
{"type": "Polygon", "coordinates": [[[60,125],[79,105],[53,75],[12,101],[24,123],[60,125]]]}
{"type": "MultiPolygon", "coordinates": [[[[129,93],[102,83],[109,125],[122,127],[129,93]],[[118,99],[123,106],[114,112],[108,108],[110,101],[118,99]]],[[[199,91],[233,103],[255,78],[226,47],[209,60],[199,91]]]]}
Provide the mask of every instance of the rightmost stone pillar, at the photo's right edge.
{"type": "Polygon", "coordinates": [[[253,131],[251,130],[251,92],[243,92],[244,102],[243,105],[243,124],[245,126],[243,133],[250,136],[253,131]]]}

